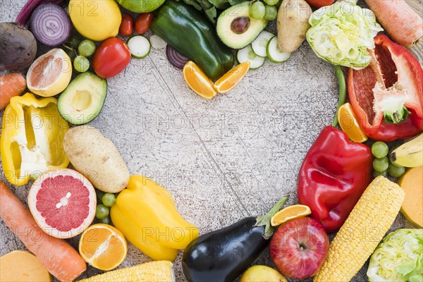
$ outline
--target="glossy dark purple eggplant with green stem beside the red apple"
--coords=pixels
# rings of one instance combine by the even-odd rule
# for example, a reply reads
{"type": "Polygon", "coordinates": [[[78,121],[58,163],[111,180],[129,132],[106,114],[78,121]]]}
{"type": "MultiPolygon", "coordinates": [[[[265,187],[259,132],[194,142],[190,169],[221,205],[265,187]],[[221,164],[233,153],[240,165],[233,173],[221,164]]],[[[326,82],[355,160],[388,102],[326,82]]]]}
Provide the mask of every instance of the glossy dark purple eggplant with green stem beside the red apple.
{"type": "Polygon", "coordinates": [[[269,244],[274,232],[270,226],[271,216],[287,199],[288,196],[282,197],[264,216],[250,216],[192,240],[182,259],[188,281],[234,281],[269,244]]]}

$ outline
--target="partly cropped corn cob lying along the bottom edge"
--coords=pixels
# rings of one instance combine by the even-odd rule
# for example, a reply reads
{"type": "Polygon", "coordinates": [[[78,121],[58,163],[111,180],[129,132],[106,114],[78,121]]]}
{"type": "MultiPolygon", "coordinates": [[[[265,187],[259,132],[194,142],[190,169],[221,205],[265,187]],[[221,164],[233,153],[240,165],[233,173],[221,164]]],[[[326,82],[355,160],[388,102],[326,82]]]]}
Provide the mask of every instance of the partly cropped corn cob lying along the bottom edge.
{"type": "Polygon", "coordinates": [[[175,282],[175,274],[173,263],[162,260],[109,271],[78,282],[175,282]]]}

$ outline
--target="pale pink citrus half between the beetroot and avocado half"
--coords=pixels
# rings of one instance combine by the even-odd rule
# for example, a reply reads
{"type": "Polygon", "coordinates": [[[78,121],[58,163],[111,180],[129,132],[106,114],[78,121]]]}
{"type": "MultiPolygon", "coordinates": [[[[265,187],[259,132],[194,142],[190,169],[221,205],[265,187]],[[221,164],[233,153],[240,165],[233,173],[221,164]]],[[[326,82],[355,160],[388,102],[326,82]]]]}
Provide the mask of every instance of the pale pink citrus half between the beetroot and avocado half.
{"type": "Polygon", "coordinates": [[[32,63],[27,72],[27,87],[34,94],[51,97],[65,90],[71,77],[71,58],[63,49],[54,48],[32,63]]]}

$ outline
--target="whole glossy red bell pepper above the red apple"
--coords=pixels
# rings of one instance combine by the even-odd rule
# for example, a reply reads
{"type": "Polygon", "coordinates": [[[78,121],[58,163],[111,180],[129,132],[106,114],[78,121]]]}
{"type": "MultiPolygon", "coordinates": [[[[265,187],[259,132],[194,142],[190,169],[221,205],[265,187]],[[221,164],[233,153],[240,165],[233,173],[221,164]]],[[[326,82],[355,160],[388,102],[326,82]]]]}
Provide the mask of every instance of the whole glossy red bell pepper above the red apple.
{"type": "Polygon", "coordinates": [[[336,231],[372,181],[373,159],[369,146],[326,126],[302,162],[298,202],[310,207],[326,231],[336,231]]]}

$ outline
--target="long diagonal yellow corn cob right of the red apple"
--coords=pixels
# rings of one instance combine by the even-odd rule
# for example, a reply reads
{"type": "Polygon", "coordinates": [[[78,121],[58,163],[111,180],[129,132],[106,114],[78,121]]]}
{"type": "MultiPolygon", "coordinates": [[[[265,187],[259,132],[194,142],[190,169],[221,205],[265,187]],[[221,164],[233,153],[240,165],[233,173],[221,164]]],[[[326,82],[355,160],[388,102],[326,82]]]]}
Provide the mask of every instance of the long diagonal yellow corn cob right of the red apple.
{"type": "Polygon", "coordinates": [[[404,196],[398,184],[383,176],[375,178],[333,239],[314,281],[350,281],[391,227],[404,196]]]}

